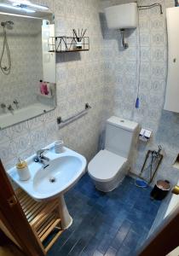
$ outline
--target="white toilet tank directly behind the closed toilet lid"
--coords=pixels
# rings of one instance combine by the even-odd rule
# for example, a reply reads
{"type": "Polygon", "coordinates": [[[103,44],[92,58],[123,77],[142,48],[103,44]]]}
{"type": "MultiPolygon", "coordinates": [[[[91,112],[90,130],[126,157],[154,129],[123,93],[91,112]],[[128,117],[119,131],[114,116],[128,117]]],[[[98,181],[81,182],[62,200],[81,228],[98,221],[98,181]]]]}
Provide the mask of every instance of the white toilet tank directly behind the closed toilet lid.
{"type": "Polygon", "coordinates": [[[115,116],[107,119],[105,148],[128,159],[137,128],[138,124],[130,120],[115,116]]]}

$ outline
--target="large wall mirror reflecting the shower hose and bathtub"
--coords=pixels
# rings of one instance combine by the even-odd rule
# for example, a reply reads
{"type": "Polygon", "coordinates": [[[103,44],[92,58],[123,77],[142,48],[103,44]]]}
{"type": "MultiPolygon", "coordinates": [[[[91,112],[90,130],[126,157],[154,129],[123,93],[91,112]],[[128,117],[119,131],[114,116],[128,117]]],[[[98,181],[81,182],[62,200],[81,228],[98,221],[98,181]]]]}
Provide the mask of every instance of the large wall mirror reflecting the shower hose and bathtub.
{"type": "Polygon", "coordinates": [[[56,106],[55,36],[50,13],[9,13],[0,6],[0,129],[47,113],[56,106]]]}

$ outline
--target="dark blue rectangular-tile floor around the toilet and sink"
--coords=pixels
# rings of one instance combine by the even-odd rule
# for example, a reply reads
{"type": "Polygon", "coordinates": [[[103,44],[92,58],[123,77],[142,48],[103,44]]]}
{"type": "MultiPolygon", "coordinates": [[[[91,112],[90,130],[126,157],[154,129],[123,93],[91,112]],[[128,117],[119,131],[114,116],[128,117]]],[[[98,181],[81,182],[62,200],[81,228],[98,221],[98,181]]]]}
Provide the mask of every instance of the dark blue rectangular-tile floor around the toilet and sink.
{"type": "Polygon", "coordinates": [[[159,210],[150,200],[151,189],[137,188],[125,177],[118,189],[102,193],[88,174],[66,193],[72,226],[50,249],[48,256],[134,256],[147,238],[159,210]]]}

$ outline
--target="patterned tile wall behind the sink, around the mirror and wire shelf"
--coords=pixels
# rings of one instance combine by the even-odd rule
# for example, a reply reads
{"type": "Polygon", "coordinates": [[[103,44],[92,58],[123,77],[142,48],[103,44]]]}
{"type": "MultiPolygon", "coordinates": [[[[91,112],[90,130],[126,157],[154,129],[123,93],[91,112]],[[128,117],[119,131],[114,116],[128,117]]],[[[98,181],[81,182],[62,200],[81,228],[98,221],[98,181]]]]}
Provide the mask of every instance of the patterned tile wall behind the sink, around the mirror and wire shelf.
{"type": "MultiPolygon", "coordinates": [[[[104,72],[109,73],[111,63],[105,63],[101,48],[103,38],[99,18],[100,0],[79,0],[78,3],[73,0],[33,2],[47,4],[55,13],[56,35],[72,36],[73,28],[87,28],[86,35],[90,36],[90,51],[56,55],[57,108],[55,111],[12,126],[9,130],[0,131],[0,155],[6,168],[14,165],[16,161],[14,154],[9,152],[10,141],[16,147],[15,154],[20,154],[22,158],[35,153],[36,150],[56,139],[63,139],[66,146],[90,159],[96,153],[101,131],[104,72]],[[59,130],[56,124],[57,116],[66,119],[83,110],[86,102],[92,107],[88,115],[59,130]]],[[[14,44],[16,43],[17,40],[14,41],[14,44]]],[[[15,76],[17,83],[20,82],[20,76],[21,73],[15,76]]],[[[12,90],[14,91],[14,87],[12,90]]],[[[23,93],[26,94],[26,89],[23,93]]]]}

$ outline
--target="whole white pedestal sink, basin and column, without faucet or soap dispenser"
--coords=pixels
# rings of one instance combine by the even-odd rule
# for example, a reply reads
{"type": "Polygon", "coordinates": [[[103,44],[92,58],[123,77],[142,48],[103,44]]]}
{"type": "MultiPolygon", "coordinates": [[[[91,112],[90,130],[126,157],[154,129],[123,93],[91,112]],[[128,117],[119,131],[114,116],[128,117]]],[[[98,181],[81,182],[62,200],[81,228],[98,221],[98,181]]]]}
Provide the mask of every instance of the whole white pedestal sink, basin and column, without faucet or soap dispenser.
{"type": "Polygon", "coordinates": [[[35,154],[26,160],[31,173],[29,180],[20,181],[15,167],[8,173],[14,183],[36,201],[49,201],[59,197],[61,225],[65,230],[72,224],[72,217],[67,210],[64,193],[83,176],[86,160],[83,155],[69,148],[64,148],[61,154],[55,154],[54,143],[47,148],[50,150],[45,154],[49,158],[46,166],[34,162],[35,154]]]}

